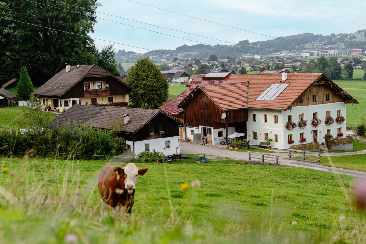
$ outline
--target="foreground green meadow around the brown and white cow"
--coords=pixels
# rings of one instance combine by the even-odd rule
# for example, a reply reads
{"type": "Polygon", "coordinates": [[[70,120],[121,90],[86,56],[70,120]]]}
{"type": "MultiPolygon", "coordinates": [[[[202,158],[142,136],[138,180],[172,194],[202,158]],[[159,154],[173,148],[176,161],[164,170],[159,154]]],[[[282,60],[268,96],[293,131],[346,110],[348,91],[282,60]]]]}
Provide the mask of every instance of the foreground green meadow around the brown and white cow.
{"type": "Polygon", "coordinates": [[[124,217],[104,209],[96,179],[104,166],[126,163],[18,156],[1,162],[3,243],[66,243],[67,235],[75,243],[354,243],[358,236],[346,236],[364,225],[344,195],[347,175],[225,159],[138,164],[149,171],[124,217]]]}

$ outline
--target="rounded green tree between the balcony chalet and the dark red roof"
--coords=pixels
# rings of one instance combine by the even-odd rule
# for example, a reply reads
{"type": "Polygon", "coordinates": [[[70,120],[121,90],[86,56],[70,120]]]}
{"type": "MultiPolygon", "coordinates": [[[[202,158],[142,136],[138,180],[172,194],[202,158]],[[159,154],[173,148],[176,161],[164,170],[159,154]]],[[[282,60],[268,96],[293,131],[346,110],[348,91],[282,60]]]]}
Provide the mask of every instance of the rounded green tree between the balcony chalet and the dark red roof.
{"type": "Polygon", "coordinates": [[[126,83],[132,87],[130,101],[137,108],[157,108],[168,98],[167,78],[148,57],[136,61],[128,72],[126,83]]]}

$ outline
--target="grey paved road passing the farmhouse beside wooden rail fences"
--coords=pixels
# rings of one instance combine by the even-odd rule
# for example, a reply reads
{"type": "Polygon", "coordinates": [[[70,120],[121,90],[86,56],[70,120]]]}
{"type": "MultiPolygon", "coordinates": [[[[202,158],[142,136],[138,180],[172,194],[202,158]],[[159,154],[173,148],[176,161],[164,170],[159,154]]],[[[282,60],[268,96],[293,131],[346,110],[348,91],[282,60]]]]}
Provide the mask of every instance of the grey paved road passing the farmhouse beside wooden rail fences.
{"type": "MultiPolygon", "coordinates": [[[[218,147],[201,146],[201,144],[193,144],[190,142],[180,142],[180,152],[189,153],[189,154],[206,154],[206,155],[213,155],[213,156],[217,156],[217,157],[227,157],[227,158],[244,159],[244,160],[249,159],[249,153],[247,153],[247,152],[223,150],[218,147]]],[[[366,151],[362,152],[362,153],[366,153],[366,151]]],[[[275,153],[275,154],[277,154],[277,153],[275,153]]],[[[329,166],[324,166],[324,165],[320,165],[320,164],[316,164],[316,163],[283,159],[283,158],[287,158],[288,154],[287,153],[278,153],[278,154],[280,155],[280,163],[279,163],[280,165],[304,167],[304,168],[310,168],[310,169],[315,169],[315,170],[323,170],[323,171],[327,171],[327,172],[331,172],[331,173],[333,173],[333,171],[335,171],[336,173],[339,173],[339,174],[348,174],[350,176],[366,178],[366,172],[350,170],[350,169],[332,168],[329,166]]],[[[345,154],[345,155],[347,155],[347,154],[345,154]]],[[[355,152],[353,152],[353,154],[355,154],[355,152]]]]}

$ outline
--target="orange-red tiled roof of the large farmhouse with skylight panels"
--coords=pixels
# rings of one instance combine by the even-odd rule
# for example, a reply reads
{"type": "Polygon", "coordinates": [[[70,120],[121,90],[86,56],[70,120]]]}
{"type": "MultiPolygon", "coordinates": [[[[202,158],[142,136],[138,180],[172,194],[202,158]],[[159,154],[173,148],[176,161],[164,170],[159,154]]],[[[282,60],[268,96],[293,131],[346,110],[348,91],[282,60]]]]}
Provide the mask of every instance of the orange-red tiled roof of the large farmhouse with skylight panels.
{"type": "MultiPolygon", "coordinates": [[[[205,92],[223,110],[241,108],[287,110],[321,76],[327,79],[328,82],[332,82],[322,73],[287,74],[287,80],[284,83],[281,82],[282,74],[234,74],[225,80],[223,84],[199,85],[198,89],[205,92]],[[290,85],[273,101],[256,100],[272,84],[290,85]]],[[[333,87],[343,91],[335,83],[333,83],[333,87]]],[[[185,97],[189,94],[186,94],[185,97]]],[[[344,95],[357,102],[349,94],[344,95]]],[[[185,101],[182,100],[178,106],[182,106],[184,103],[185,101]]]]}

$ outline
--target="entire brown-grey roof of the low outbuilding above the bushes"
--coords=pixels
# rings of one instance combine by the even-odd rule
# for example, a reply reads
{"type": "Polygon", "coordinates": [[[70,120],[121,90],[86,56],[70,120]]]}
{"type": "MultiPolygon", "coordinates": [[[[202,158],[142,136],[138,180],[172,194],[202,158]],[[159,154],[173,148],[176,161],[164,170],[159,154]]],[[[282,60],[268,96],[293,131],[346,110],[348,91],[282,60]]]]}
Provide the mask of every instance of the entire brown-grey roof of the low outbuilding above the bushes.
{"type": "Polygon", "coordinates": [[[66,112],[62,113],[56,119],[53,120],[55,127],[63,123],[72,121],[83,121],[86,125],[97,127],[101,129],[111,129],[111,122],[116,120],[123,123],[123,115],[128,115],[128,124],[124,125],[121,132],[133,133],[141,128],[145,123],[155,117],[158,113],[164,113],[171,119],[179,121],[180,124],[184,124],[182,121],[175,119],[171,115],[168,115],[161,109],[142,109],[142,108],[120,108],[109,106],[91,106],[91,105],[74,105],[66,112]]]}

